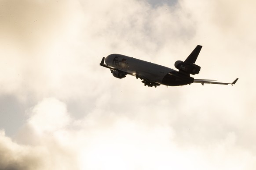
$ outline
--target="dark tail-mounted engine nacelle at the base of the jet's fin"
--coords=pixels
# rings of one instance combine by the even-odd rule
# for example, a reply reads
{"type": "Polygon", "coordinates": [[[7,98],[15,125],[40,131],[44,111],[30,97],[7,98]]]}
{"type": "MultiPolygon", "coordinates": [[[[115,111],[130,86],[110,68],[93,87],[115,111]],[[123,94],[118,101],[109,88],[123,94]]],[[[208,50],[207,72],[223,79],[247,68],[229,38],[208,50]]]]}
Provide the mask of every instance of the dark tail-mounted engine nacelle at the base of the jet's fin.
{"type": "Polygon", "coordinates": [[[189,74],[198,74],[201,67],[194,63],[185,63],[183,61],[176,61],[174,66],[179,69],[179,71],[184,71],[189,74]]]}

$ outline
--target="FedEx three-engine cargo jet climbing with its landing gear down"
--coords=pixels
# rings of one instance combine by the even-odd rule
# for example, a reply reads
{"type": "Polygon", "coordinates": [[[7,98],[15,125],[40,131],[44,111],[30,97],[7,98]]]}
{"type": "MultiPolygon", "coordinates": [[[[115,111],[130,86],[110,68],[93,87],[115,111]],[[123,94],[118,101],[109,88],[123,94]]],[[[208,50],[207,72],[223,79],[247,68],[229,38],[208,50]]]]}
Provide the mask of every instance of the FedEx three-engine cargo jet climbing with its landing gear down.
{"type": "Polygon", "coordinates": [[[103,57],[99,65],[109,68],[116,78],[125,78],[129,74],[135,76],[137,79],[141,79],[144,85],[149,87],[157,87],[159,85],[181,86],[192,83],[201,83],[201,85],[234,85],[238,81],[238,78],[232,83],[222,83],[216,82],[216,80],[194,79],[190,77],[190,74],[199,74],[201,69],[200,66],[195,64],[201,48],[202,46],[197,45],[185,61],[178,60],[175,62],[174,66],[179,71],[121,54],[110,54],[106,59],[103,57]],[[106,64],[104,64],[104,61],[106,64]]]}

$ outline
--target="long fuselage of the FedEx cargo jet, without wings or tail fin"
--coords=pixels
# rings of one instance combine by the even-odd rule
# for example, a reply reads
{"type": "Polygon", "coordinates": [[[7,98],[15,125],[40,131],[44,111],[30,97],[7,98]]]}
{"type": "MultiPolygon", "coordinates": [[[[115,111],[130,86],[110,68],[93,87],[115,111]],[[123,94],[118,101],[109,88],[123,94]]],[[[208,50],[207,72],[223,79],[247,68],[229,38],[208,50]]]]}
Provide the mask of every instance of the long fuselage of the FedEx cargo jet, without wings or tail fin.
{"type": "Polygon", "coordinates": [[[121,54],[110,54],[105,59],[106,65],[146,81],[168,86],[191,84],[194,78],[181,74],[171,68],[139,60],[121,54]]]}

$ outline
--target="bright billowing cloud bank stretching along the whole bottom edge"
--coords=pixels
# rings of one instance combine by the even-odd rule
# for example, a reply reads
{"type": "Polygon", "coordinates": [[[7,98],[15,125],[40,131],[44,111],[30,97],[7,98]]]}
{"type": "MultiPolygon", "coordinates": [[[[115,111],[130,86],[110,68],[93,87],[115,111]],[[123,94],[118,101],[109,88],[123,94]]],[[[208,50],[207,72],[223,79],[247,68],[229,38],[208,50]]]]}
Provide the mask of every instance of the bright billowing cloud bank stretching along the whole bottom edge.
{"type": "Polygon", "coordinates": [[[234,132],[208,145],[183,147],[176,142],[179,131],[168,124],[145,124],[100,110],[82,120],[72,120],[65,108],[64,103],[53,98],[34,106],[26,128],[20,131],[23,135],[19,142],[23,145],[1,131],[1,169],[253,169],[255,166],[255,156],[237,146],[234,132]],[[41,117],[43,113],[45,116],[41,117]],[[56,124],[52,124],[53,118],[56,124]]]}

